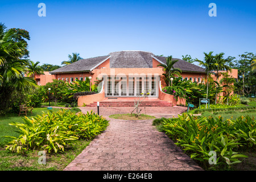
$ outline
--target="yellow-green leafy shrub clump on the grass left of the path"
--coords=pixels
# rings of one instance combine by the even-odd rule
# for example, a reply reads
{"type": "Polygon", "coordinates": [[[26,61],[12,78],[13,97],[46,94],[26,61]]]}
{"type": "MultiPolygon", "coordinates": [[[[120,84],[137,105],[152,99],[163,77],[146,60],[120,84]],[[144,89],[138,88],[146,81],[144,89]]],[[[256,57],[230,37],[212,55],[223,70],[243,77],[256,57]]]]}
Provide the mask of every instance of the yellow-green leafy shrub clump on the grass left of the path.
{"type": "Polygon", "coordinates": [[[90,140],[108,126],[108,120],[94,114],[73,112],[71,110],[48,111],[37,117],[23,118],[24,123],[11,122],[9,125],[20,129],[18,138],[13,139],[6,150],[23,153],[28,150],[46,150],[49,153],[64,151],[79,139],[90,140]]]}

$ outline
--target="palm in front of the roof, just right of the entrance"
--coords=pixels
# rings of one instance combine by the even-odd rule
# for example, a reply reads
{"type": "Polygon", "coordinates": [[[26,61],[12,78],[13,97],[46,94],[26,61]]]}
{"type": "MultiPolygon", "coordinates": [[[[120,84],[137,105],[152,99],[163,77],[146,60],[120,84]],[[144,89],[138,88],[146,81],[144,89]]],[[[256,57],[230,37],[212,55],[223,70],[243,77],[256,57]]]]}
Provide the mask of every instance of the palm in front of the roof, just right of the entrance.
{"type": "Polygon", "coordinates": [[[165,81],[168,86],[170,86],[170,78],[174,77],[174,75],[180,75],[181,69],[174,68],[174,64],[179,60],[173,60],[172,56],[168,56],[166,58],[166,64],[159,64],[158,67],[163,67],[166,72],[163,74],[165,76],[165,81]]]}

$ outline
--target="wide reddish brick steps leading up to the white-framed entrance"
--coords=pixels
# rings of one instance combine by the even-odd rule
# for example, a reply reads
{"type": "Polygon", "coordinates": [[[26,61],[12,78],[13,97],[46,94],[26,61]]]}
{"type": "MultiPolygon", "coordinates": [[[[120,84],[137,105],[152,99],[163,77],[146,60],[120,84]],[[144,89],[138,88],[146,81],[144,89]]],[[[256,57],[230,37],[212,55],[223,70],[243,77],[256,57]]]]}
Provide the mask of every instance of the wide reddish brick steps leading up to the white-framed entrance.
{"type": "MultiPolygon", "coordinates": [[[[86,107],[96,107],[97,102],[93,102],[92,104],[86,105],[86,107]]],[[[133,107],[134,100],[122,100],[122,99],[105,99],[100,101],[100,107],[133,107]]],[[[147,99],[142,101],[141,107],[170,107],[172,104],[167,101],[162,101],[159,99],[147,99]]]]}

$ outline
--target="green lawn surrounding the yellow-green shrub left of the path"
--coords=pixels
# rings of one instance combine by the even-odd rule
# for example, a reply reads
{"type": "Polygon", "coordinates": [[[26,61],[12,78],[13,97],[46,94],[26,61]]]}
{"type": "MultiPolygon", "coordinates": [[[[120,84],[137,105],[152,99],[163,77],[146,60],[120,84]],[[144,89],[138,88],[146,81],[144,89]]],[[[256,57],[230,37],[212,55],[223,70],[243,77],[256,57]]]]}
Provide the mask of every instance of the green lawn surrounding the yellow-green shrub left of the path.
{"type": "MultiPolygon", "coordinates": [[[[60,109],[52,109],[53,112],[57,110],[60,109]]],[[[31,118],[36,115],[41,115],[43,111],[47,112],[47,108],[34,108],[32,114],[28,114],[27,117],[31,118]]],[[[72,111],[77,112],[80,110],[76,108],[72,111]]],[[[38,160],[40,155],[38,155],[38,150],[29,151],[25,155],[5,150],[5,144],[7,144],[10,139],[1,137],[5,135],[18,137],[19,134],[15,132],[18,131],[18,129],[14,126],[10,126],[9,123],[24,123],[22,118],[23,116],[18,117],[18,114],[6,114],[5,117],[0,117],[0,171],[61,171],[72,162],[91,141],[77,140],[64,152],[47,154],[46,164],[39,164],[38,160]]]]}

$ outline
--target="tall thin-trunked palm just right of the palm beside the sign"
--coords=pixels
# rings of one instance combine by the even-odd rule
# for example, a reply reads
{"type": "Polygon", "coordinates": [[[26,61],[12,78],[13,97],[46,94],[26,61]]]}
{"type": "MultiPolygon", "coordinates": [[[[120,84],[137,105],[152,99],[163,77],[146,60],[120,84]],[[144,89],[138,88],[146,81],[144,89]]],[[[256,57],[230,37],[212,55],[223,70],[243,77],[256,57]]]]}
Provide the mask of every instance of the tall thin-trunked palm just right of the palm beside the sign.
{"type": "MultiPolygon", "coordinates": [[[[222,71],[222,70],[225,70],[225,71],[229,71],[231,72],[232,69],[229,67],[228,65],[228,62],[229,60],[228,59],[223,59],[223,56],[224,56],[225,53],[221,52],[221,53],[218,53],[214,56],[214,69],[215,71],[217,71],[217,82],[218,82],[218,76],[219,76],[219,71],[222,71]]],[[[218,84],[217,84],[217,87],[218,87],[218,84]]],[[[217,94],[218,94],[218,90],[219,89],[216,89],[216,98],[215,98],[215,104],[217,103],[217,94]]]]}

